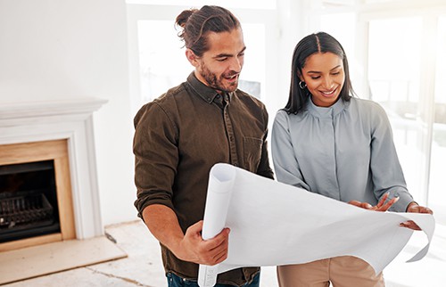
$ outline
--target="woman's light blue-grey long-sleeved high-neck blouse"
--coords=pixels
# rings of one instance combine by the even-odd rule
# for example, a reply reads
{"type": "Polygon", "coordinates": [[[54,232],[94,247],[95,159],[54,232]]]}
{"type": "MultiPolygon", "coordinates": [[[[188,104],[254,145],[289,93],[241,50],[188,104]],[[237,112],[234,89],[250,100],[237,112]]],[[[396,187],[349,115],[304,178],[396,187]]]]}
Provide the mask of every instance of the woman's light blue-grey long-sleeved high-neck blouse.
{"type": "Polygon", "coordinates": [[[372,205],[389,192],[389,198],[400,197],[392,211],[405,211],[413,201],[392,128],[376,102],[351,98],[324,108],[309,101],[297,115],[278,111],[271,149],[279,182],[372,205]]]}

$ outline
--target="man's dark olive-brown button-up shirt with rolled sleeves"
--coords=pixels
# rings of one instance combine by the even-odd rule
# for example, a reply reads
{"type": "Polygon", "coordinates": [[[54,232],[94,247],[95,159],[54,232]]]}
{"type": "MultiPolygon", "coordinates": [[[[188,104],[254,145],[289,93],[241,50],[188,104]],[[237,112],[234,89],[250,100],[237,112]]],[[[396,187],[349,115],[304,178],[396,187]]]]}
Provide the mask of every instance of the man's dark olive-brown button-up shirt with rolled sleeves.
{"type": "MultiPolygon", "coordinates": [[[[273,178],[263,103],[240,90],[218,94],[194,73],[145,104],[136,114],[135,128],[135,206],[140,217],[148,205],[162,204],[175,211],[186,232],[203,218],[209,172],[219,162],[273,178]]],[[[178,259],[162,244],[161,252],[166,272],[198,277],[197,264],[178,259]]],[[[240,286],[258,272],[258,267],[235,269],[219,275],[218,283],[240,286]]]]}

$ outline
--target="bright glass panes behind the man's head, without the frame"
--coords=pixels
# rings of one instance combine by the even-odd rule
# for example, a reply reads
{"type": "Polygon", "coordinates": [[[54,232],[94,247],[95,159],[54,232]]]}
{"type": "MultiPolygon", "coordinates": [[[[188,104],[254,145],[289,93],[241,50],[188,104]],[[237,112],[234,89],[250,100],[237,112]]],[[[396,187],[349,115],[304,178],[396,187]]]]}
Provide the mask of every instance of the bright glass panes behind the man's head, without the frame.
{"type": "MultiPolygon", "coordinates": [[[[244,70],[239,88],[258,98],[264,94],[265,28],[242,23],[244,29],[244,70]]],[[[139,83],[142,102],[150,102],[178,86],[194,70],[186,60],[184,43],[172,21],[138,21],[139,83]],[[156,41],[153,41],[156,39],[156,41]]]]}

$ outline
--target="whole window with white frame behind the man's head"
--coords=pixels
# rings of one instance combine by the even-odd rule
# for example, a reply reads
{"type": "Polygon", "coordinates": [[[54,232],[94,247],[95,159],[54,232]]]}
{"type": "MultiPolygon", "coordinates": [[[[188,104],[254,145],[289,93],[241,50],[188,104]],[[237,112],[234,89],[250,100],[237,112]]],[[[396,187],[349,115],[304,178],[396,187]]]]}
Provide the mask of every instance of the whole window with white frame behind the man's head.
{"type": "MultiPolygon", "coordinates": [[[[179,29],[175,26],[178,14],[190,7],[174,5],[175,1],[165,5],[152,5],[153,2],[134,4],[135,1],[128,1],[130,94],[134,113],[145,102],[184,82],[194,70],[186,59],[184,42],[178,37],[179,29]]],[[[202,5],[200,1],[195,3],[198,8],[202,5]]],[[[267,62],[273,61],[267,59],[268,51],[277,50],[275,46],[278,45],[277,41],[266,39],[277,38],[278,31],[271,29],[277,27],[277,23],[269,19],[276,10],[265,9],[275,4],[276,1],[264,0],[255,5],[256,9],[231,9],[241,21],[246,45],[239,88],[265,103],[267,95],[274,94],[271,92],[273,85],[269,83],[273,83],[278,74],[275,63],[266,68],[267,62]]]]}

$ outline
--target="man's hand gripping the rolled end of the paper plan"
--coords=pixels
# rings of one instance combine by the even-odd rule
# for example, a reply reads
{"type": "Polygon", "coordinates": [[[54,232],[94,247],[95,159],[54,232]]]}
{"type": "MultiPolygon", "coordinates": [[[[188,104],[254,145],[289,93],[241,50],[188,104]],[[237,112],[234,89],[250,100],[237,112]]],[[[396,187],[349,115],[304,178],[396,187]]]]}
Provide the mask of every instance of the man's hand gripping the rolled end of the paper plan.
{"type": "MultiPolygon", "coordinates": [[[[229,228],[209,240],[202,239],[202,220],[189,226],[178,244],[175,255],[185,261],[204,265],[216,265],[227,258],[229,228]]],[[[173,250],[172,250],[173,251],[173,250]]]]}

